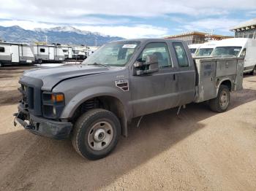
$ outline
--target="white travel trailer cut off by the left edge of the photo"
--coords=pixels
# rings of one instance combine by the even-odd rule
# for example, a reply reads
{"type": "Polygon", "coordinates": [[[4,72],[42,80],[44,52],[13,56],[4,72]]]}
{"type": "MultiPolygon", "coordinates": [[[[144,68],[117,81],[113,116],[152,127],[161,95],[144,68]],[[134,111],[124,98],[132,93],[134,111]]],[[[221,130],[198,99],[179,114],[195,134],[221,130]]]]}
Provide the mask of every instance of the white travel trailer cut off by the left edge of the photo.
{"type": "Polygon", "coordinates": [[[15,63],[34,63],[29,44],[0,42],[0,66],[15,63]]]}

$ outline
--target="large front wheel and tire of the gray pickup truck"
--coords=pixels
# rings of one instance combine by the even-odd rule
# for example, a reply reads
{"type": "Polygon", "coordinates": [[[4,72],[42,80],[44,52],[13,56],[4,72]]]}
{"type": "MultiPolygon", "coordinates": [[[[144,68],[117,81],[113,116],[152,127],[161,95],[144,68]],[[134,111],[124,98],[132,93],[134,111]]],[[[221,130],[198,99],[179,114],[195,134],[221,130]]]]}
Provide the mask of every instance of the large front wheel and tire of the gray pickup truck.
{"type": "Polygon", "coordinates": [[[121,125],[115,114],[105,109],[91,109],[75,122],[72,145],[82,157],[97,160],[116,147],[121,125]]]}

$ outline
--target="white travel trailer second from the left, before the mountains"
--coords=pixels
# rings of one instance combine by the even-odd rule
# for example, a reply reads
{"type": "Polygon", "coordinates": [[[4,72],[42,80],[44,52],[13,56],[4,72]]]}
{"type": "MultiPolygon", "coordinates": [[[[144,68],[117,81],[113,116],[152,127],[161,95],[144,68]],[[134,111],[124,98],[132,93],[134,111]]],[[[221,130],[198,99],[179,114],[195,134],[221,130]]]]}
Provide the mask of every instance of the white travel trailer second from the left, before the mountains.
{"type": "Polygon", "coordinates": [[[33,50],[37,63],[62,62],[65,60],[64,52],[59,45],[34,45],[33,50]]]}

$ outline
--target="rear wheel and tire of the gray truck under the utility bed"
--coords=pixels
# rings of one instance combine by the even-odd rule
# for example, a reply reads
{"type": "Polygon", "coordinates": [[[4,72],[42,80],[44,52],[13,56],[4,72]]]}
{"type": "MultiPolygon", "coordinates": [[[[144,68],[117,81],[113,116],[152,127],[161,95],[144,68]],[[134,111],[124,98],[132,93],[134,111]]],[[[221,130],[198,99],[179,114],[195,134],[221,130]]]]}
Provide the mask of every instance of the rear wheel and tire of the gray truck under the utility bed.
{"type": "Polygon", "coordinates": [[[210,109],[214,112],[225,112],[230,105],[230,90],[227,85],[220,85],[217,98],[209,101],[210,109]]]}

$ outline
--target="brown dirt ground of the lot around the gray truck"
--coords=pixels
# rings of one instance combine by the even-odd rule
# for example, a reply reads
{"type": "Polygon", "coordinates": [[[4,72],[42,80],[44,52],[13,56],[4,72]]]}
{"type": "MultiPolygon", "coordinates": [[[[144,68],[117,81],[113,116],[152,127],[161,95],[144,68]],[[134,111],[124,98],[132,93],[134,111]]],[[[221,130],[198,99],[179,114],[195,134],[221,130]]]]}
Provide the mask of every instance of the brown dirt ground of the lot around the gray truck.
{"type": "Polygon", "coordinates": [[[0,69],[0,190],[256,190],[256,76],[244,77],[227,112],[189,104],[178,116],[150,114],[110,156],[90,161],[69,140],[13,126],[25,69],[0,69]]]}

